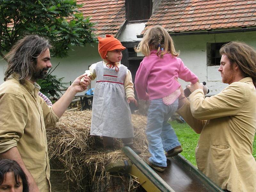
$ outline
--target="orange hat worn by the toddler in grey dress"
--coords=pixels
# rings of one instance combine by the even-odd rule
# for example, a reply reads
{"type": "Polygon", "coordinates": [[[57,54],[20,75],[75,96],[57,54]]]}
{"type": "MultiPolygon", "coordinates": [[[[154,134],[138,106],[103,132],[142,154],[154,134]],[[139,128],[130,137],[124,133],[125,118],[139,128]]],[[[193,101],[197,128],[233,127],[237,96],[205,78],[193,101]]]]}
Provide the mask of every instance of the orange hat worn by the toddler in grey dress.
{"type": "Polygon", "coordinates": [[[125,50],[125,47],[121,44],[121,42],[112,35],[106,35],[105,38],[98,37],[98,40],[98,51],[102,59],[106,59],[108,51],[113,51],[115,49],[125,50]]]}

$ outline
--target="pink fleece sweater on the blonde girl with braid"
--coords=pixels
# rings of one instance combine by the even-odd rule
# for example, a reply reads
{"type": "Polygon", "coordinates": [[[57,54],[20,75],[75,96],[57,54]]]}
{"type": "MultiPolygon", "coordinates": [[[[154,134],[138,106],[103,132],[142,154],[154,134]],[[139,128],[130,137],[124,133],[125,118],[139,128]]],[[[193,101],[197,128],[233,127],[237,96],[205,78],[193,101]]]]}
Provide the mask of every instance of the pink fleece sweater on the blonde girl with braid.
{"type": "Polygon", "coordinates": [[[180,87],[175,77],[192,84],[197,82],[198,77],[184,66],[180,58],[165,54],[161,59],[156,52],[152,50],[148,57],[144,57],[136,72],[135,89],[138,99],[153,100],[170,95],[180,87]]]}

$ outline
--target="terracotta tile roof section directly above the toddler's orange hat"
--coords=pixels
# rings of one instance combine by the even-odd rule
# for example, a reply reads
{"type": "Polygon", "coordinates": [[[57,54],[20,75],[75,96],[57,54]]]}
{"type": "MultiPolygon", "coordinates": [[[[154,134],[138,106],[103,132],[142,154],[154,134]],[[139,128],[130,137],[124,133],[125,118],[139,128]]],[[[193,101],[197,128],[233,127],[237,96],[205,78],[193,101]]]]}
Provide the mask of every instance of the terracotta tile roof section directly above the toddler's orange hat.
{"type": "Polygon", "coordinates": [[[84,4],[79,11],[84,17],[91,16],[91,22],[97,22],[94,32],[98,36],[110,34],[116,36],[125,22],[125,0],[77,0],[84,4]]]}

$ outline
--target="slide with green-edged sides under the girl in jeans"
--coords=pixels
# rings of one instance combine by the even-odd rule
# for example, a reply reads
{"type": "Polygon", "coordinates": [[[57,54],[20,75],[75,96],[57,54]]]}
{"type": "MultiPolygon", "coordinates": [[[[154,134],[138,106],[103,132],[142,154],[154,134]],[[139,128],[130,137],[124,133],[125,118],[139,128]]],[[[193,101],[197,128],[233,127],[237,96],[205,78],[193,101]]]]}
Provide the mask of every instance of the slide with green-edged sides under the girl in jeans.
{"type": "Polygon", "coordinates": [[[223,191],[183,156],[168,158],[164,172],[155,172],[129,147],[122,149],[132,162],[127,170],[139,178],[147,192],[217,192],[223,191]]]}

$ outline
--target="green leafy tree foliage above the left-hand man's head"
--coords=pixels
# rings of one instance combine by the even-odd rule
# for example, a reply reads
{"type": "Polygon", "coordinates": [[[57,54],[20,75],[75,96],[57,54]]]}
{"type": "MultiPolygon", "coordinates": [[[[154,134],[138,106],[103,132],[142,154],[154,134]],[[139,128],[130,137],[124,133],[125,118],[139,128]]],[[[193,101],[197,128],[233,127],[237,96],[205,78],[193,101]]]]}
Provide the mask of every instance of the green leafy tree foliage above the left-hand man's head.
{"type": "Polygon", "coordinates": [[[47,37],[54,57],[66,57],[71,46],[96,42],[94,23],[78,11],[76,0],[0,0],[0,55],[28,34],[47,37]]]}

